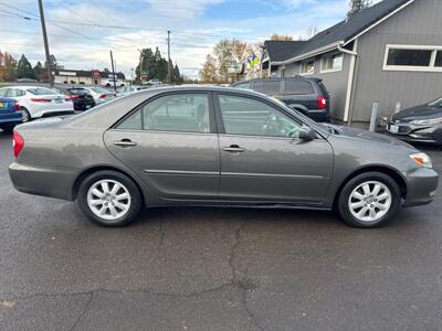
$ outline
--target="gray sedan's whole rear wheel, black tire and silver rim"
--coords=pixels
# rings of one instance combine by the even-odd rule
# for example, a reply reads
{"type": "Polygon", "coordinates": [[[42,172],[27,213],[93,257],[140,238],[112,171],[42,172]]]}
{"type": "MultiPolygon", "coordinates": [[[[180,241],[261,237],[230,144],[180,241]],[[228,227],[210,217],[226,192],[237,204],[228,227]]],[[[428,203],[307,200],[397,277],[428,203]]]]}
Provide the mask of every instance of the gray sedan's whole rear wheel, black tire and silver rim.
{"type": "Polygon", "coordinates": [[[77,194],[83,213],[95,224],[107,227],[125,226],[134,222],[141,201],[141,193],[135,182],[127,175],[110,170],[97,171],[86,177],[77,194]],[[116,184],[119,185],[118,190],[115,189],[116,184]]]}

